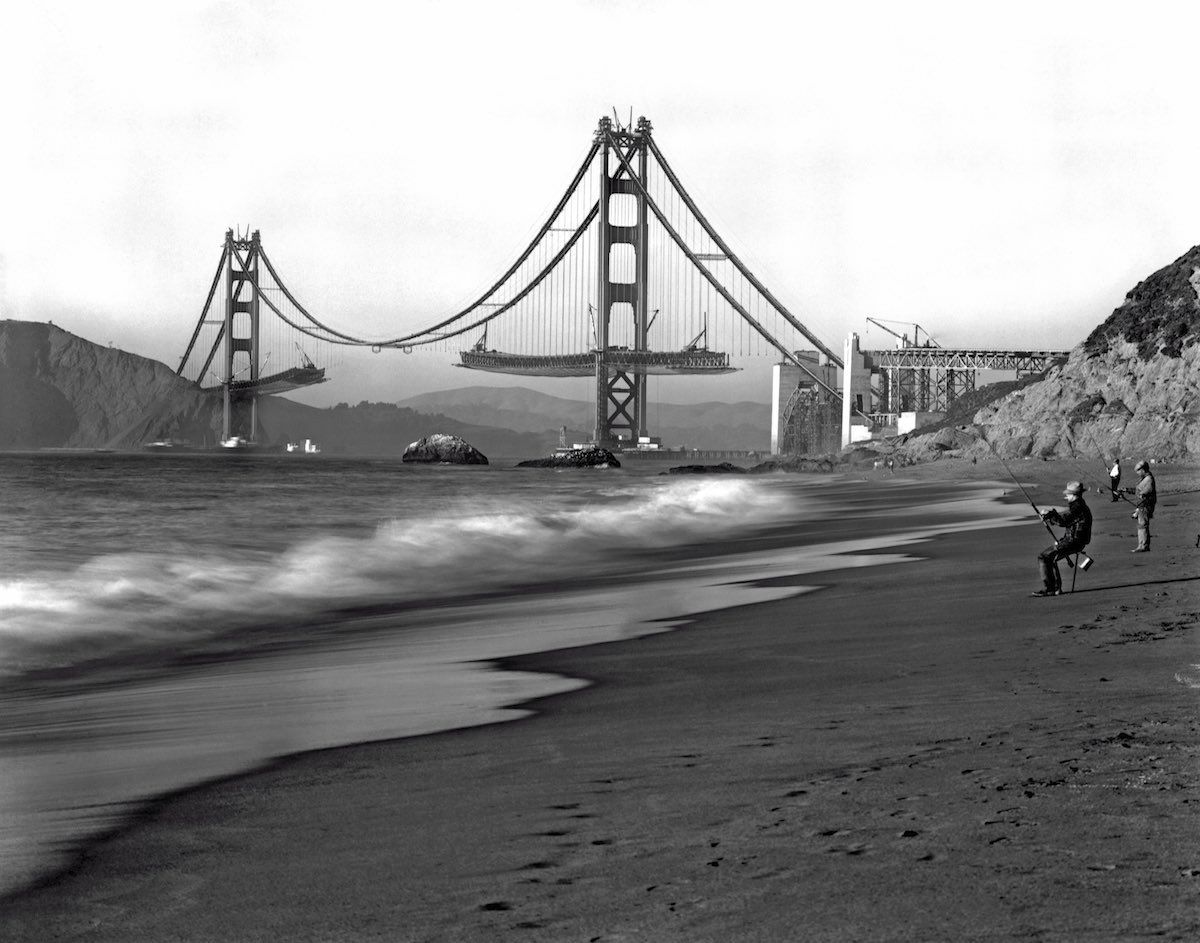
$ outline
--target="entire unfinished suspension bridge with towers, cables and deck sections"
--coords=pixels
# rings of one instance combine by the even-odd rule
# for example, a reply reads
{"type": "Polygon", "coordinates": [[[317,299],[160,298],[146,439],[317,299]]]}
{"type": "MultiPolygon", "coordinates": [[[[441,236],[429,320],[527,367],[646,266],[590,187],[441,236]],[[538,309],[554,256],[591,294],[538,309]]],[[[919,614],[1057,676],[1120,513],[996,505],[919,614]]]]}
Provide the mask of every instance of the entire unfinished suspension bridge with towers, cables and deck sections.
{"type": "Polygon", "coordinates": [[[862,355],[857,342],[839,355],[730,248],[646,118],[600,120],[550,216],[462,310],[385,338],[328,320],[288,289],[257,230],[229,230],[176,373],[223,397],[224,439],[253,439],[258,397],[325,382],[338,348],[455,350],[475,371],[593,377],[593,440],[620,448],[649,437],[648,377],[720,376],[737,370],[731,354],[770,356],[773,449],[823,452],[839,431],[846,444],[852,425],[877,426],[901,402],[944,406],[973,389],[989,356],[1039,370],[1060,355],[937,348],[901,362],[896,352],[862,355]]]}

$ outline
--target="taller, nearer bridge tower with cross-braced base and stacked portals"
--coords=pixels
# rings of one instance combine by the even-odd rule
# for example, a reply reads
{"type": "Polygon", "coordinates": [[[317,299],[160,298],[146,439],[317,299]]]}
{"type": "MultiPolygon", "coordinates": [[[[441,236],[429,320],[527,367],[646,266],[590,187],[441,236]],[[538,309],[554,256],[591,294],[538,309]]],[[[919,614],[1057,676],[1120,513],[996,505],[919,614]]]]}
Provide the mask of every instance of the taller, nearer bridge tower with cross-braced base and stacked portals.
{"type": "Polygon", "coordinates": [[[614,318],[632,318],[635,350],[647,349],[649,332],[647,298],[649,288],[649,226],[646,192],[647,158],[649,154],[652,125],[638,118],[636,127],[613,128],[612,119],[601,118],[596,128],[600,142],[600,235],[596,286],[596,414],[593,440],[610,446],[618,439],[637,444],[638,436],[646,434],[646,374],[626,372],[608,362],[610,329],[614,318]],[[630,178],[620,160],[611,160],[612,148],[619,148],[629,167],[636,167],[642,182],[630,178]],[[636,157],[636,161],[634,160],[636,157]],[[616,167],[616,169],[613,169],[616,167]],[[628,196],[626,196],[628,194],[628,196]],[[618,204],[634,200],[636,210],[630,220],[625,209],[618,205],[613,212],[613,198],[618,204]],[[616,215],[617,221],[613,221],[616,215]],[[628,246],[628,250],[622,247],[628,246]],[[624,256],[613,264],[616,253],[624,256]],[[630,262],[632,263],[630,265],[630,262]],[[613,270],[622,276],[631,271],[632,281],[612,280],[613,270]]]}

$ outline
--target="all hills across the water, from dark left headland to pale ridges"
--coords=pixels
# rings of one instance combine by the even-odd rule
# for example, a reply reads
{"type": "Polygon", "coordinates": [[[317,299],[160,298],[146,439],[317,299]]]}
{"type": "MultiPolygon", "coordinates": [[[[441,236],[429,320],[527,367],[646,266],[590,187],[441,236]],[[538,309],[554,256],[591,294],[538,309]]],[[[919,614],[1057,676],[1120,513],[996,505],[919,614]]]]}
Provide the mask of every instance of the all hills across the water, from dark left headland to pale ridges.
{"type": "MultiPolygon", "coordinates": [[[[763,449],[769,407],[655,406],[654,432],[691,448],[763,449]]],[[[422,436],[461,436],[493,458],[546,455],[562,426],[589,437],[592,403],[533,390],[463,388],[402,403],[304,406],[259,400],[265,444],[316,439],[326,454],[396,456],[422,436]]],[[[53,324],[0,320],[0,449],[137,449],[155,439],[216,446],[222,401],[166,364],[53,324]]]]}

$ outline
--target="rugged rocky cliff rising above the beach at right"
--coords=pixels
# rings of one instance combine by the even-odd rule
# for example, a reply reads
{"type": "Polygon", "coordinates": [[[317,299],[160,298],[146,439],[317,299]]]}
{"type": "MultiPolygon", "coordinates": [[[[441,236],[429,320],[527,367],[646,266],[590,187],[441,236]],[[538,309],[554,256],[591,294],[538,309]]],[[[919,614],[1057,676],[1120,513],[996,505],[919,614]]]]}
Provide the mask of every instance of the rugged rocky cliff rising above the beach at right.
{"type": "Polygon", "coordinates": [[[1135,286],[1066,362],[970,424],[913,436],[901,451],[983,455],[978,434],[1004,457],[1200,458],[1200,246],[1135,286]]]}

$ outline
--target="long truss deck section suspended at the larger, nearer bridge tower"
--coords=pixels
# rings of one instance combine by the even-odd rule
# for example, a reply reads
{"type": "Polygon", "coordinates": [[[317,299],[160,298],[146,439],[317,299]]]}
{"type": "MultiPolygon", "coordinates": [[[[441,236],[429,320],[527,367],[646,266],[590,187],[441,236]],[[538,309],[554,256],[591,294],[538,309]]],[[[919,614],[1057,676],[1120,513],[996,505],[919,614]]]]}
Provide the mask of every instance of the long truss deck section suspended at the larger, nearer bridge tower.
{"type": "MultiPolygon", "coordinates": [[[[506,354],[500,350],[463,350],[458,366],[490,373],[515,373],[523,377],[594,377],[596,352],[538,356],[506,354]]],[[[610,371],[647,376],[689,376],[734,373],[730,355],[715,350],[613,350],[602,354],[610,371]]]]}

